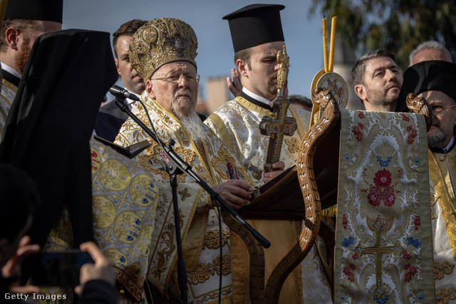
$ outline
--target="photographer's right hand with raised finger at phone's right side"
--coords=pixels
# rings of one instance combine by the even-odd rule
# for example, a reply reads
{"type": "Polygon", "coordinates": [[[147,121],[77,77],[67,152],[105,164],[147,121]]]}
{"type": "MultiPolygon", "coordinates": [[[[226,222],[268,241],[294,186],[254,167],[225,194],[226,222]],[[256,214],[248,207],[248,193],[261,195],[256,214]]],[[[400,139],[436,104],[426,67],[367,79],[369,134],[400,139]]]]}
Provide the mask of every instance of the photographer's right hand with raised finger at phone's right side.
{"type": "MultiPolygon", "coordinates": [[[[93,261],[95,261],[94,264],[88,263],[81,267],[81,275],[79,276],[81,285],[90,280],[104,280],[114,285],[115,272],[113,271],[110,261],[103,255],[100,248],[98,248],[93,242],[81,243],[79,248],[81,251],[90,253],[93,261]]],[[[80,295],[82,291],[81,285],[74,288],[78,295],[80,295]]]]}

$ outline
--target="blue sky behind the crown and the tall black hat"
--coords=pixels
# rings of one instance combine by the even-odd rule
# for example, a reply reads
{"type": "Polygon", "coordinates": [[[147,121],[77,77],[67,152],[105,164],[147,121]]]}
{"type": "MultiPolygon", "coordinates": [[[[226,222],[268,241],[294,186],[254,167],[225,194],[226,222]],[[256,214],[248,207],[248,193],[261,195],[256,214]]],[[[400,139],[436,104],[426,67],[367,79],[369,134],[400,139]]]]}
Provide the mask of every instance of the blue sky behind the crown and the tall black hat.
{"type": "MultiPolygon", "coordinates": [[[[311,81],[323,68],[321,19],[319,12],[309,16],[310,0],[248,2],[240,0],[63,0],[63,29],[82,28],[111,34],[125,21],[177,18],[190,24],[198,38],[198,73],[202,80],[229,75],[233,47],[228,21],[222,16],[248,4],[283,4],[281,11],[286,50],[290,56],[289,93],[310,95],[311,81]]],[[[332,16],[328,12],[326,16],[332,16]]],[[[331,23],[328,21],[328,36],[331,23]]],[[[339,29],[340,30],[340,29],[339,29]]]]}

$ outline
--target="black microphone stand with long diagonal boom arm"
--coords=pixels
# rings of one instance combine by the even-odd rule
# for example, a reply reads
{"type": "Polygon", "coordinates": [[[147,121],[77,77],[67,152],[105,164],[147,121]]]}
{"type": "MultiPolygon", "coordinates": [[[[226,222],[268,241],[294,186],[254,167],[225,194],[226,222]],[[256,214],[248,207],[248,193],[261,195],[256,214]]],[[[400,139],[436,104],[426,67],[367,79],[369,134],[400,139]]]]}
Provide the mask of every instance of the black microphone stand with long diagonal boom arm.
{"type": "MultiPolygon", "coordinates": [[[[242,217],[237,214],[234,209],[232,209],[231,206],[229,206],[220,196],[217,192],[214,192],[214,190],[209,187],[209,185],[204,182],[201,177],[199,177],[198,174],[196,174],[192,166],[190,164],[187,164],[180,156],[172,149],[172,146],[175,144],[174,140],[170,140],[169,144],[165,144],[160,140],[160,138],[157,136],[155,132],[152,132],[136,115],[133,114],[133,112],[130,111],[127,105],[125,103],[122,103],[120,100],[115,100],[115,105],[122,110],[122,112],[125,112],[130,116],[135,122],[142,128],[142,130],[145,130],[147,135],[152,137],[155,142],[157,142],[163,150],[165,150],[165,153],[167,154],[167,157],[170,158],[170,161],[167,163],[167,172],[170,174],[170,184],[172,187],[172,202],[173,202],[173,207],[174,207],[174,217],[175,217],[175,231],[176,231],[176,242],[177,242],[177,257],[178,257],[178,263],[177,263],[177,281],[179,281],[179,288],[181,292],[181,299],[182,303],[187,303],[187,271],[185,271],[185,265],[184,265],[184,259],[182,255],[182,239],[180,235],[180,216],[179,216],[179,206],[177,204],[177,174],[182,174],[186,173],[188,176],[190,176],[197,184],[199,184],[200,187],[206,191],[210,198],[213,201],[218,201],[221,206],[223,206],[225,209],[229,211],[229,213],[234,216],[237,221],[239,221],[240,224],[242,224],[251,234],[254,236],[257,241],[263,246],[264,248],[269,248],[271,246],[271,243],[264,238],[264,236],[261,236],[258,231],[252,228],[249,223],[244,221],[242,217]]],[[[145,109],[147,111],[147,109],[145,109]]],[[[152,122],[150,122],[152,123],[152,122]]],[[[222,244],[220,244],[222,246],[222,244]]]]}

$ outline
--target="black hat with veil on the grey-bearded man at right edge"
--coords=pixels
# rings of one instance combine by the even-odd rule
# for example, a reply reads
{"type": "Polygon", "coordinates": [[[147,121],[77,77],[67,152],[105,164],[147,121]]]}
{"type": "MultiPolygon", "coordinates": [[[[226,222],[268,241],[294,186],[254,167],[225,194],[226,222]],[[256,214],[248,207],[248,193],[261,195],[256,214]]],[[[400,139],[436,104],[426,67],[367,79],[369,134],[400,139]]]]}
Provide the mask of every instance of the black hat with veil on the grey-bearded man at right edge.
{"type": "Polygon", "coordinates": [[[441,91],[456,100],[456,65],[447,61],[422,61],[410,66],[404,73],[397,110],[405,112],[405,98],[410,93],[428,90],[441,91]]]}

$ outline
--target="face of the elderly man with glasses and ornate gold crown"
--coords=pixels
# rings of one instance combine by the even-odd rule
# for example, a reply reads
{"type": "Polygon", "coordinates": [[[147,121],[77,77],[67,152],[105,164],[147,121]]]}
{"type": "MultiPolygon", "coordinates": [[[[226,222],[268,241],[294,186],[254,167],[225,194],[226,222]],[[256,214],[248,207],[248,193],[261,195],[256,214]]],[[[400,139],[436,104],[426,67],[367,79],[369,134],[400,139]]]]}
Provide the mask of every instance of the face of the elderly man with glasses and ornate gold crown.
{"type": "Polygon", "coordinates": [[[167,63],[146,82],[149,98],[176,117],[188,117],[197,104],[198,83],[195,65],[187,61],[167,63]]]}

